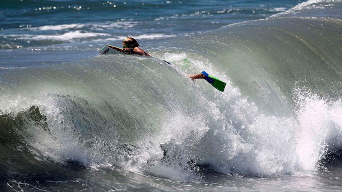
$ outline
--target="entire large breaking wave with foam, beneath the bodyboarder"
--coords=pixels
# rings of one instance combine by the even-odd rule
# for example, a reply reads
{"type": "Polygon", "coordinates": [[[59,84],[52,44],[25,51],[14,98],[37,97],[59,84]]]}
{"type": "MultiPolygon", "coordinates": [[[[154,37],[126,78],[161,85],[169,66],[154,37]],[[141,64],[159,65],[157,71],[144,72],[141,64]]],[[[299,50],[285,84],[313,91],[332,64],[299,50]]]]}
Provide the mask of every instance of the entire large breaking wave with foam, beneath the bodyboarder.
{"type": "Polygon", "coordinates": [[[176,180],[200,180],[203,166],[314,173],[342,149],[341,8],[305,2],[161,43],[149,51],[156,58],[99,55],[1,71],[1,148],[31,162],[110,164],[176,180]],[[202,70],[227,82],[225,92],[186,76],[202,70]]]}

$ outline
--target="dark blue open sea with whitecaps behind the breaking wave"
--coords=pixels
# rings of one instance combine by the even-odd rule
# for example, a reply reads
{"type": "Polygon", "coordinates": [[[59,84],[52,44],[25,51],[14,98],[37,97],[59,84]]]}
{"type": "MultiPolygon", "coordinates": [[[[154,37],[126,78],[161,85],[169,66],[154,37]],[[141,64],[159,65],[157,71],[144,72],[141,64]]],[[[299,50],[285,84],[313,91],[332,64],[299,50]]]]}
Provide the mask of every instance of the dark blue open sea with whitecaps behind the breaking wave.
{"type": "Polygon", "coordinates": [[[142,46],[285,11],[298,1],[3,1],[3,50],[95,51],[133,36],[142,46]]]}

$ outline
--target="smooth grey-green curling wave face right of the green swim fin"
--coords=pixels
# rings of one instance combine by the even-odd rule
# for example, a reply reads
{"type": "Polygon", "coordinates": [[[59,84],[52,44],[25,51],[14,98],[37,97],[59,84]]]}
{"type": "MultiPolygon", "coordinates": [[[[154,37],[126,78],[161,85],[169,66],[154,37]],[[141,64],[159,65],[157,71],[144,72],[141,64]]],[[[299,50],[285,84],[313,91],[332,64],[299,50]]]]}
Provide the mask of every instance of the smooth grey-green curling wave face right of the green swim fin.
{"type": "Polygon", "coordinates": [[[339,99],[341,18],[334,17],[340,8],[340,1],[309,1],[267,19],[191,37],[183,47],[209,58],[242,94],[272,113],[287,110],[294,84],[339,99]],[[312,10],[321,16],[313,17],[312,10]]]}

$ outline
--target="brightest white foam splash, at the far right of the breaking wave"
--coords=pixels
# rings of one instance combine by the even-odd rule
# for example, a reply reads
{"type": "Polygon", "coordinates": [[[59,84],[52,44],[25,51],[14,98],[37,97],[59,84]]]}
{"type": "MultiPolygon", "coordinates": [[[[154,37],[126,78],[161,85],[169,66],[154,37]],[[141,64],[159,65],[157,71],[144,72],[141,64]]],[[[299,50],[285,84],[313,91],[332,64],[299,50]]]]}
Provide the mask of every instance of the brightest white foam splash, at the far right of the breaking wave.
{"type": "Polygon", "coordinates": [[[326,102],[317,96],[300,96],[297,155],[300,166],[315,170],[327,150],[342,148],[342,102],[326,102]]]}

